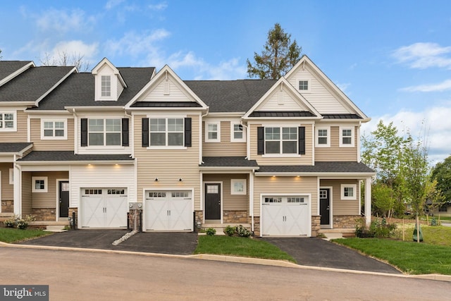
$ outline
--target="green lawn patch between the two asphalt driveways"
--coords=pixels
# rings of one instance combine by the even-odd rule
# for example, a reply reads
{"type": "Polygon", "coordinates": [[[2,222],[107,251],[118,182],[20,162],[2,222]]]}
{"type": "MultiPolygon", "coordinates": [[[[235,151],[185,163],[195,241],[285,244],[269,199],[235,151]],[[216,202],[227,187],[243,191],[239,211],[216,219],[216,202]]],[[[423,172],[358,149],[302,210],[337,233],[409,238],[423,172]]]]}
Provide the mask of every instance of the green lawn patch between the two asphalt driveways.
{"type": "Polygon", "coordinates": [[[296,263],[294,258],[268,242],[227,235],[199,235],[199,242],[194,254],[233,255],[287,260],[296,263]]]}

